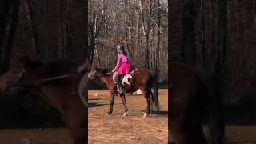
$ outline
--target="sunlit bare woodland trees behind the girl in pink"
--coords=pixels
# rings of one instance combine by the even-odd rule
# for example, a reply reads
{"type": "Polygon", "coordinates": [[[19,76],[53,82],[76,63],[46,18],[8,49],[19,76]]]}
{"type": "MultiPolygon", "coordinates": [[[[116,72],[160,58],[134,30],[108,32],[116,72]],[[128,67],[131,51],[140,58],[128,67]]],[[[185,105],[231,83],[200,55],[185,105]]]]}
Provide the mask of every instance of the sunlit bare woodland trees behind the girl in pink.
{"type": "Polygon", "coordinates": [[[126,46],[135,67],[167,82],[168,5],[163,0],[90,0],[89,48],[93,66],[114,69],[116,46],[126,46]]]}

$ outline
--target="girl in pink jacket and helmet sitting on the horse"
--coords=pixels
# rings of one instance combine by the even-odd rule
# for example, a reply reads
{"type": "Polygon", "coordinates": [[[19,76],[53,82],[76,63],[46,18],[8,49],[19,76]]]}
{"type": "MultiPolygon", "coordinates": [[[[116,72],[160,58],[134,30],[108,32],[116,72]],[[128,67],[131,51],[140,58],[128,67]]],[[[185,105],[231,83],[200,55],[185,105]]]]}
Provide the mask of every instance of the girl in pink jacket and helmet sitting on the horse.
{"type": "Polygon", "coordinates": [[[122,76],[126,75],[130,71],[131,63],[130,63],[130,58],[127,57],[127,53],[125,51],[125,46],[118,45],[117,47],[118,50],[118,62],[116,66],[114,67],[114,70],[112,70],[113,74],[113,80],[114,83],[116,83],[119,87],[119,94],[125,94],[126,89],[122,85],[122,76]]]}

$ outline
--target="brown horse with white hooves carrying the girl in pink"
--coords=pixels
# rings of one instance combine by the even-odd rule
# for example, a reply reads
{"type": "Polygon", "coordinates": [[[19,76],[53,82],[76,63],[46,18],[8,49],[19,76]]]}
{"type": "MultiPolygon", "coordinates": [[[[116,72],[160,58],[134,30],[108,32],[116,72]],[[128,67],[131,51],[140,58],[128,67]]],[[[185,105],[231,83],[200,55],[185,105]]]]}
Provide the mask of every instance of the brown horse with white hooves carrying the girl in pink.
{"type": "MultiPolygon", "coordinates": [[[[153,110],[159,110],[159,101],[158,101],[158,94],[156,90],[152,92],[154,87],[154,78],[150,74],[148,70],[138,69],[134,70],[131,74],[132,78],[129,78],[129,84],[125,83],[126,93],[133,93],[138,89],[142,90],[142,94],[146,100],[146,113],[144,117],[150,114],[153,110]]],[[[90,71],[88,74],[90,79],[97,78],[102,83],[106,84],[108,90],[110,90],[110,110],[107,114],[112,114],[113,106],[114,106],[114,97],[117,94],[117,86],[114,83],[112,77],[113,73],[110,73],[110,70],[102,70],[99,68],[95,68],[93,71],[90,71]]],[[[125,108],[124,116],[128,115],[128,108],[126,106],[126,97],[125,94],[120,95],[122,98],[122,104],[125,108]]]]}

